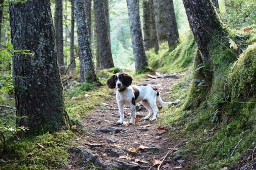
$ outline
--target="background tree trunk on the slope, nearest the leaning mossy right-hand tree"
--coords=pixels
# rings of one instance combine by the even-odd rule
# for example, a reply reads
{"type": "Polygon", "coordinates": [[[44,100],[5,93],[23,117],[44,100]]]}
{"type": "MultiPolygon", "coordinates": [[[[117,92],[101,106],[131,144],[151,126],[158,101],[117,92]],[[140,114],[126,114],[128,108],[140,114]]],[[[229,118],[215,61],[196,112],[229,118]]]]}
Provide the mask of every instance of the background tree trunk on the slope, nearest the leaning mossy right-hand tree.
{"type": "Polygon", "coordinates": [[[172,47],[179,38],[173,0],[163,0],[163,7],[168,46],[172,47]]]}

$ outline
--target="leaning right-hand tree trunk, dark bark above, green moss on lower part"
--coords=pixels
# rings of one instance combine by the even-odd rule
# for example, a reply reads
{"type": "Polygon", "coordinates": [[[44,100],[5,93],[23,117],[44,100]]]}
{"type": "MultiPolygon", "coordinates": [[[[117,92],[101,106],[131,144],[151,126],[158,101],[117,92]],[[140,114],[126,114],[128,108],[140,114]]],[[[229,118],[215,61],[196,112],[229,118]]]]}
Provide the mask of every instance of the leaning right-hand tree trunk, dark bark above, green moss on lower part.
{"type": "Polygon", "coordinates": [[[194,82],[191,87],[187,102],[187,108],[198,106],[212,86],[214,72],[213,58],[209,55],[211,48],[215,48],[213,42],[227,34],[223,28],[211,0],[183,0],[190,28],[197,42],[198,55],[195,58],[197,71],[194,74],[194,82]],[[198,88],[199,87],[199,88],[198,88]],[[195,100],[197,99],[197,101],[195,100]]]}

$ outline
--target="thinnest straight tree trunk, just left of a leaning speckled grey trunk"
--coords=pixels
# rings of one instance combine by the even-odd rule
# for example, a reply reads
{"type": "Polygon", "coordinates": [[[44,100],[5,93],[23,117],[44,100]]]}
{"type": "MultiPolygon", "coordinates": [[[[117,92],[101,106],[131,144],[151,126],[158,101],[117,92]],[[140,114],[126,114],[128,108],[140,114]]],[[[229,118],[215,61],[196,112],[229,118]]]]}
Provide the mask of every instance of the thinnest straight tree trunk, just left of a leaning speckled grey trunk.
{"type": "Polygon", "coordinates": [[[71,74],[75,73],[76,60],[74,53],[74,34],[75,34],[75,13],[74,13],[74,0],[71,0],[71,30],[70,30],[70,70],[71,74]]]}

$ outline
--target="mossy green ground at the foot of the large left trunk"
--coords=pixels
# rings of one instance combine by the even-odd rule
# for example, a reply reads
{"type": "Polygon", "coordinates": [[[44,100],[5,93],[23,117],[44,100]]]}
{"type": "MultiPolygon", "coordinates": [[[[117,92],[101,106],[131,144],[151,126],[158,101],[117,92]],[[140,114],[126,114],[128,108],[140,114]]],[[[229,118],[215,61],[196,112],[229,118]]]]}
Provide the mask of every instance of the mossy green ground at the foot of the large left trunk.
{"type": "Polygon", "coordinates": [[[75,135],[70,132],[46,133],[40,136],[9,139],[1,151],[1,170],[52,170],[65,167],[74,147],[75,135]]]}

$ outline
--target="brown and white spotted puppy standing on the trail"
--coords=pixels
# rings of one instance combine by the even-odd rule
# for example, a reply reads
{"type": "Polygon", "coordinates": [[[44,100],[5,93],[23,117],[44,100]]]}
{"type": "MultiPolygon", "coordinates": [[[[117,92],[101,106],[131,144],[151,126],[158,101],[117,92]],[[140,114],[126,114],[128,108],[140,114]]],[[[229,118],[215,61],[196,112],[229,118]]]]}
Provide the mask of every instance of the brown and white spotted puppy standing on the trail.
{"type": "Polygon", "coordinates": [[[149,114],[143,118],[143,120],[149,119],[153,114],[153,118],[150,121],[154,121],[158,116],[158,107],[156,105],[156,99],[160,104],[177,104],[178,102],[163,102],[159,96],[158,89],[153,85],[131,85],[133,81],[132,76],[126,73],[117,73],[112,75],[107,80],[109,88],[117,88],[116,99],[118,102],[120,119],[117,124],[123,124],[123,107],[129,105],[131,108],[131,120],[129,124],[135,123],[135,108],[137,102],[142,102],[149,114]]]}

